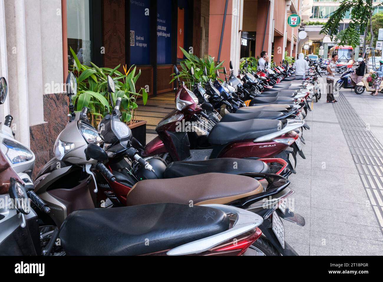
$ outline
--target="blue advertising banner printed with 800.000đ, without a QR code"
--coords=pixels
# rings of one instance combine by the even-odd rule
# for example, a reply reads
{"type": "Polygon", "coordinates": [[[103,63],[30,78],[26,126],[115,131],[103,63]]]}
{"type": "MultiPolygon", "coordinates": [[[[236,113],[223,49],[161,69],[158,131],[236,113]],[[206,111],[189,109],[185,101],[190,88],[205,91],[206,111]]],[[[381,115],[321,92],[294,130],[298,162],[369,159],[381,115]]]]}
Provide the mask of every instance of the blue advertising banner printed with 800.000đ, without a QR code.
{"type": "Polygon", "coordinates": [[[157,2],[157,64],[172,61],[172,0],[157,2]]]}

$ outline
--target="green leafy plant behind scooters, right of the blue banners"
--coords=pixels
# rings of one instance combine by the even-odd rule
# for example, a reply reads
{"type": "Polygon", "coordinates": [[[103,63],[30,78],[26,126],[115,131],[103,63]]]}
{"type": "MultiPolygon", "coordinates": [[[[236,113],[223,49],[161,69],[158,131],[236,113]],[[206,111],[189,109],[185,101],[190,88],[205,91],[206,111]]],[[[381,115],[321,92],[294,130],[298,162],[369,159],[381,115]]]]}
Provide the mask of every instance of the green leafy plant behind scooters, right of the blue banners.
{"type": "MultiPolygon", "coordinates": [[[[180,62],[181,69],[179,74],[179,78],[182,78],[182,80],[185,82],[188,89],[191,89],[192,84],[194,81],[201,81],[201,82],[208,82],[208,80],[215,79],[216,78],[216,70],[223,69],[222,64],[224,61],[218,63],[215,65],[214,57],[206,56],[205,58],[198,58],[194,54],[188,53],[185,49],[180,47],[182,53],[185,55],[186,59],[183,59],[180,62]],[[189,71],[193,67],[194,69],[194,76],[192,76],[189,71]],[[203,75],[203,70],[206,67],[207,75],[203,75]]],[[[169,84],[175,81],[177,79],[177,76],[175,73],[170,74],[172,79],[170,80],[169,84]]],[[[220,81],[223,81],[222,79],[218,78],[220,81]]]]}

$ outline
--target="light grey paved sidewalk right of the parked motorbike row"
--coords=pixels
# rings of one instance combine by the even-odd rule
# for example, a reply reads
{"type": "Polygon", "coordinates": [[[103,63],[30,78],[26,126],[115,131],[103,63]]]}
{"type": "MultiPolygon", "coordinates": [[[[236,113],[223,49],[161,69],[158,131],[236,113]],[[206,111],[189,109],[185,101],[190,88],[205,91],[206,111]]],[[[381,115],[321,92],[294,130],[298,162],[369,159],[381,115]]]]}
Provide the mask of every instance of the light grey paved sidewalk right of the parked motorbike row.
{"type": "Polygon", "coordinates": [[[383,96],[336,99],[322,95],[306,119],[306,159],[290,176],[306,226],[284,221],[286,241],[300,255],[383,255],[383,96]]]}

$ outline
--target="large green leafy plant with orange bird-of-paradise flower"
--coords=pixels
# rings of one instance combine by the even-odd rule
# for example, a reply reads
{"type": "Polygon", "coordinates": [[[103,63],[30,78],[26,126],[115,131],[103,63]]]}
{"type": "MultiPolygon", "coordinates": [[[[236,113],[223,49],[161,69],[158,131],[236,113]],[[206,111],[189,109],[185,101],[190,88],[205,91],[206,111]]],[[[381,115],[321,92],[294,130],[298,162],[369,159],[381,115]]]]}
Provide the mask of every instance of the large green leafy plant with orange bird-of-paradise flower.
{"type": "Polygon", "coordinates": [[[117,69],[119,64],[114,69],[99,68],[92,62],[91,66],[85,66],[80,63],[75,52],[70,48],[70,52],[74,58],[73,69],[77,75],[77,95],[72,96],[72,103],[75,110],[79,111],[83,107],[88,107],[90,110],[90,122],[97,127],[97,120],[102,119],[108,112],[111,112],[110,97],[107,92],[107,77],[110,75],[115,81],[116,93],[111,93],[113,104],[117,98],[121,97],[121,116],[125,123],[133,124],[136,122],[135,113],[137,109],[137,99],[142,97],[144,105],[147,101],[147,92],[144,88],[136,91],[136,81],[141,75],[141,70],[136,74],[136,66],[126,71],[124,66],[124,74],[117,69]],[[133,68],[133,70],[132,70],[133,68]]]}

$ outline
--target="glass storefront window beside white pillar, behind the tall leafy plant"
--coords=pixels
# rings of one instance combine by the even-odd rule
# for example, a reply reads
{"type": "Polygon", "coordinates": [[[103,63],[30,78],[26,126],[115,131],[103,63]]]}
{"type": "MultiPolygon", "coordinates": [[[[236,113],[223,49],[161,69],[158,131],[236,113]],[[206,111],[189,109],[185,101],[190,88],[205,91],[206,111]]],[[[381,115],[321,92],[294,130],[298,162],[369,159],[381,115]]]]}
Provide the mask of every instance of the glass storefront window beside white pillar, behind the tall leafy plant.
{"type": "Polygon", "coordinates": [[[67,37],[68,64],[74,64],[69,47],[77,54],[80,63],[90,66],[92,61],[92,41],[90,36],[90,22],[92,15],[89,0],[67,0],[67,37]]]}

